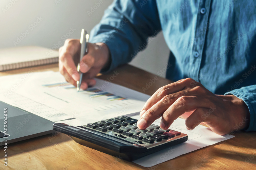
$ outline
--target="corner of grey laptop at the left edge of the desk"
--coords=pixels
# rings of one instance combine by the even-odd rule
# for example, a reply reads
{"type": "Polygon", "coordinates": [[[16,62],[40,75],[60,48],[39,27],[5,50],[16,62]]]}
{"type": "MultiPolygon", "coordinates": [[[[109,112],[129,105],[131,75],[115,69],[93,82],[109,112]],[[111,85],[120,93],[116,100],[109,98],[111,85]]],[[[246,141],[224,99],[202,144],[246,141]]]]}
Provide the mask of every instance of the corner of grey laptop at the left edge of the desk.
{"type": "Polygon", "coordinates": [[[0,146],[55,132],[54,122],[0,101],[0,146]]]}

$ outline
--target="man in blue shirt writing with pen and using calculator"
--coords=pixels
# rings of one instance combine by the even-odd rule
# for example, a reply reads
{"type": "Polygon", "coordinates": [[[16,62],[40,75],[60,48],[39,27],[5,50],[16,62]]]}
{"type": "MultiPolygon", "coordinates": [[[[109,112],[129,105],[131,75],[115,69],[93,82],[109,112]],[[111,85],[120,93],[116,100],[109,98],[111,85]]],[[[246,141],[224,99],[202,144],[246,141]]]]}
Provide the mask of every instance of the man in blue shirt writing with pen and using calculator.
{"type": "MultiPolygon", "coordinates": [[[[182,116],[188,130],[201,122],[220,135],[256,130],[255,11],[255,1],[116,0],[91,31],[81,88],[95,85],[97,73],[131,61],[162,30],[171,51],[166,78],[176,82],[146,102],[137,126],[162,117],[160,127],[167,129],[182,116]]],[[[59,50],[60,72],[74,86],[79,51],[72,39],[59,50]]]]}

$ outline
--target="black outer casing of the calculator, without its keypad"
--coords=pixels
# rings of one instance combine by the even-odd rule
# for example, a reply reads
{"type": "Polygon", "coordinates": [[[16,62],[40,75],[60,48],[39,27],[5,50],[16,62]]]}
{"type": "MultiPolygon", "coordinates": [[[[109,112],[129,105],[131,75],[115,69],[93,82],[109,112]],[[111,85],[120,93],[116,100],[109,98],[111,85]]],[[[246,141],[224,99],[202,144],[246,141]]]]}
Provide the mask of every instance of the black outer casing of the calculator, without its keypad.
{"type": "Polygon", "coordinates": [[[188,140],[188,136],[186,134],[182,134],[184,137],[181,139],[176,139],[174,141],[163,143],[162,145],[147,148],[87,127],[55,123],[53,125],[53,129],[69,135],[73,140],[81,145],[112,156],[117,156],[118,158],[127,161],[134,161],[148,154],[172,147],[188,140]]]}

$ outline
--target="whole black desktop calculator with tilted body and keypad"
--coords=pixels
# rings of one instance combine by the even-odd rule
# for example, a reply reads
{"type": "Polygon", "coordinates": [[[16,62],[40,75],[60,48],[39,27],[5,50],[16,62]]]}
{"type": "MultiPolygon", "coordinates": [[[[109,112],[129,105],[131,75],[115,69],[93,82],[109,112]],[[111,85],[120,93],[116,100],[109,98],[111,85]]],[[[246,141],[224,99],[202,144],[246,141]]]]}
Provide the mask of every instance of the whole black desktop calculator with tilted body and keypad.
{"type": "Polygon", "coordinates": [[[138,129],[132,116],[114,117],[84,126],[55,123],[54,130],[67,134],[77,143],[127,161],[169,148],[188,140],[188,135],[151,124],[138,129]]]}

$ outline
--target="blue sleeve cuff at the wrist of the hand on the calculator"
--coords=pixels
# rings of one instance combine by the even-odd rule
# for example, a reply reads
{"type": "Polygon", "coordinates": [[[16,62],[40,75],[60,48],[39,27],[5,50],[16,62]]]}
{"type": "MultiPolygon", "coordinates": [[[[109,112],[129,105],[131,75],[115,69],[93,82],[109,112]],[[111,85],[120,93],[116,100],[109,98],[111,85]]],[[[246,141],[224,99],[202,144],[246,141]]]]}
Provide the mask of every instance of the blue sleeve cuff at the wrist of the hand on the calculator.
{"type": "MultiPolygon", "coordinates": [[[[242,87],[225,93],[225,95],[234,95],[239,99],[242,99],[249,108],[250,111],[250,124],[246,131],[256,130],[256,85],[242,87]]],[[[248,119],[248,118],[246,118],[248,119]]],[[[246,120],[245,119],[245,120],[246,120]]]]}

